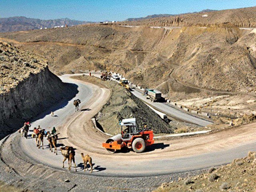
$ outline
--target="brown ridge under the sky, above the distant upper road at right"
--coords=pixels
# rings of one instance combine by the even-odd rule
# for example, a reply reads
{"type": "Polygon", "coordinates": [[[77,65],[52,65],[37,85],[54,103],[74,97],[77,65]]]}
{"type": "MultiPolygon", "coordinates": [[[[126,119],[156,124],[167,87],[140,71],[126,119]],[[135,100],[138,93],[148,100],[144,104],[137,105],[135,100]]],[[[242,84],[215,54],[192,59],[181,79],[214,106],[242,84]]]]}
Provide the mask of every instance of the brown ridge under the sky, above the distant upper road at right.
{"type": "Polygon", "coordinates": [[[140,21],[125,21],[127,25],[144,26],[223,26],[231,24],[237,27],[256,27],[256,7],[230,9],[213,12],[199,12],[170,16],[163,18],[150,18],[140,21]],[[207,15],[207,16],[206,16],[207,15]]]}

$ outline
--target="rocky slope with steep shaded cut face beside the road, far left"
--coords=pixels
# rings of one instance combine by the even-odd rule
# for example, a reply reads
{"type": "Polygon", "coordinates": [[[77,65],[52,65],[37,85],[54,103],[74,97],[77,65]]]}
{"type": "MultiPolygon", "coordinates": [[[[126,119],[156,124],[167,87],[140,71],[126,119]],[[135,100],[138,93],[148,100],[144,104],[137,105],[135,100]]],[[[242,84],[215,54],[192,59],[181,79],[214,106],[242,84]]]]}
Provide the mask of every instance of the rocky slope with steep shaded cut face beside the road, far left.
{"type": "Polygon", "coordinates": [[[0,139],[76,88],[48,69],[44,58],[0,42],[0,139]]]}

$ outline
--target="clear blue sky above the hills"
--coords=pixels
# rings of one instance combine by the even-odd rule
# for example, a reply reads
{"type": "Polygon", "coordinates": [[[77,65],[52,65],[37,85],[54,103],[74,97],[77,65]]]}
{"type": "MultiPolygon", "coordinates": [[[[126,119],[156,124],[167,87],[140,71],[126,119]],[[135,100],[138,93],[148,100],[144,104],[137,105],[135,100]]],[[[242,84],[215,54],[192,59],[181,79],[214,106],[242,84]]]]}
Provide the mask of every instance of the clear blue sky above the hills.
{"type": "Polygon", "coordinates": [[[0,18],[70,18],[122,21],[152,14],[180,14],[204,9],[256,6],[256,0],[0,0],[0,18]]]}

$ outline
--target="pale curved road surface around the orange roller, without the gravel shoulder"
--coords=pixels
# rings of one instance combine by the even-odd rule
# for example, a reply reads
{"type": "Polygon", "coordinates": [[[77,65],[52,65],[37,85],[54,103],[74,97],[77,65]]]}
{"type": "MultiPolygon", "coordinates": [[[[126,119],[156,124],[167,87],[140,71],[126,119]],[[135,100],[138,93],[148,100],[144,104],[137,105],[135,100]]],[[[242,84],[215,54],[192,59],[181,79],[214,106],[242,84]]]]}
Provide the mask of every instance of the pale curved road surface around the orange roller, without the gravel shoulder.
{"type": "MultiPolygon", "coordinates": [[[[102,142],[105,142],[108,136],[97,132],[92,127],[90,118],[107,102],[110,91],[69,76],[72,75],[64,75],[60,78],[64,82],[78,85],[79,92],[76,98],[82,100],[82,110],[74,112],[72,99],[68,105],[64,107],[60,105],[54,112],[58,117],[43,115],[41,119],[32,122],[32,128],[40,124],[42,128],[50,130],[50,127],[56,126],[57,131],[61,133],[58,142],[77,148],[76,164],[82,162],[80,152],[92,156],[95,163],[94,176],[153,176],[199,170],[229,163],[234,158],[246,156],[248,151],[256,148],[256,138],[251,134],[256,131],[256,123],[253,123],[200,137],[156,140],[156,144],[142,154],[134,152],[109,154],[102,148],[102,142]]],[[[46,140],[44,140],[45,149],[39,150],[34,139],[20,138],[18,133],[12,134],[8,139],[14,140],[14,138],[18,138],[20,148],[30,159],[62,169],[63,157],[60,151],[58,150],[57,156],[51,153],[46,146],[48,145],[46,140]]],[[[66,166],[67,164],[66,162],[66,166]]],[[[90,174],[84,173],[81,167],[78,167],[78,173],[90,174]]]]}

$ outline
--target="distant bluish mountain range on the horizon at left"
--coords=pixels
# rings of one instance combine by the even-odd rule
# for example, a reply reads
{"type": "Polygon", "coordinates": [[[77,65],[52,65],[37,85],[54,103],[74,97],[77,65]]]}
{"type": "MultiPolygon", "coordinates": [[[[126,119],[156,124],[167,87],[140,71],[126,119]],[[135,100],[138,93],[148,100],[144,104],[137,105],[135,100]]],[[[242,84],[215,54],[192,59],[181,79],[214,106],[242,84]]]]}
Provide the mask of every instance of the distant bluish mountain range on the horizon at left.
{"type": "Polygon", "coordinates": [[[0,18],[0,32],[11,31],[24,31],[32,29],[53,28],[54,26],[62,26],[67,24],[68,26],[86,24],[86,21],[64,19],[52,19],[52,20],[40,20],[33,18],[26,18],[23,16],[0,18]]]}

